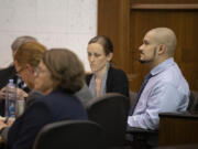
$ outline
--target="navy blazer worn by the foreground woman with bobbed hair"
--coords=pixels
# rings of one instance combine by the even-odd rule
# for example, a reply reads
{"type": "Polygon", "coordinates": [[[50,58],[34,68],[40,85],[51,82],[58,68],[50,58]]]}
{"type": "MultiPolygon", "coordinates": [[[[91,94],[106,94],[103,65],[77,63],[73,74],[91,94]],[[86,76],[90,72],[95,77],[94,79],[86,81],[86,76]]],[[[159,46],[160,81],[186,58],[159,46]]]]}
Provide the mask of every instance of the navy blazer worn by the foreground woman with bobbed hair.
{"type": "Polygon", "coordinates": [[[43,96],[16,118],[9,130],[6,148],[32,149],[35,137],[44,125],[66,119],[87,119],[79,99],[62,91],[43,96]]]}

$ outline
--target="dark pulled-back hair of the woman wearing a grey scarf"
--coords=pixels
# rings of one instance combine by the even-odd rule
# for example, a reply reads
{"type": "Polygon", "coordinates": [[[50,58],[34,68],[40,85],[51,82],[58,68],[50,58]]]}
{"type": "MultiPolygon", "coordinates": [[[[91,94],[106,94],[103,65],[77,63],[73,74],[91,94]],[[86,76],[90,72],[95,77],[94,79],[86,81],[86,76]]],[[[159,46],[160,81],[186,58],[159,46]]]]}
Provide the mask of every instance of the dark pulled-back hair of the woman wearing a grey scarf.
{"type": "Polygon", "coordinates": [[[91,44],[91,43],[99,43],[103,47],[103,52],[106,55],[108,55],[109,53],[113,53],[113,44],[111,40],[105,35],[97,35],[92,38],[88,42],[88,44],[91,44]]]}

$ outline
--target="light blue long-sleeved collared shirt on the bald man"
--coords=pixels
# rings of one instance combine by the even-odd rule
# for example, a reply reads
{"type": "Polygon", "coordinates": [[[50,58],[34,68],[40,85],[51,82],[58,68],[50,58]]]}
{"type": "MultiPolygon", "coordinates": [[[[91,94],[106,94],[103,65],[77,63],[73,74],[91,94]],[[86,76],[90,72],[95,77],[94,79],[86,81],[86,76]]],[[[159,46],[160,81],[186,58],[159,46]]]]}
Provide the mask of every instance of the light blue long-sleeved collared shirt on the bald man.
{"type": "Polygon", "coordinates": [[[132,116],[130,127],[157,129],[160,113],[184,111],[189,103],[189,86],[173,58],[158,64],[150,72],[147,82],[132,116]]]}

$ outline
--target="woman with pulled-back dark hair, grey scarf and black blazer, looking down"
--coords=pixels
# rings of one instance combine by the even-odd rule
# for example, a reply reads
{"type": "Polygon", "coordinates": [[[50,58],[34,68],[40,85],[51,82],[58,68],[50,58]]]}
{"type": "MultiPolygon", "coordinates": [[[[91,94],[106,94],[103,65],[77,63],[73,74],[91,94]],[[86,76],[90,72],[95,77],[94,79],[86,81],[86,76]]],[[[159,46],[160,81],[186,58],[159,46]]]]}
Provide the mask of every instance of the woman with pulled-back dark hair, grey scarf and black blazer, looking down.
{"type": "Polygon", "coordinates": [[[129,97],[129,81],[125,73],[111,66],[113,45],[103,35],[92,38],[88,43],[88,61],[92,74],[86,76],[87,85],[92,95],[120,93],[129,97]]]}

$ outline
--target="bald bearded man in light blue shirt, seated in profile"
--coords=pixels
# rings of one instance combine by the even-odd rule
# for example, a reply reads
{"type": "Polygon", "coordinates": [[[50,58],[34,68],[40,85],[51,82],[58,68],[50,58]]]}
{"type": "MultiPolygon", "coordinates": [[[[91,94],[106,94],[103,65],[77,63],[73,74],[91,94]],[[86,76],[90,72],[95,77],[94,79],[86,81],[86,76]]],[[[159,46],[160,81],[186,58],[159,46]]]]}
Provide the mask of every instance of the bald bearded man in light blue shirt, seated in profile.
{"type": "Polygon", "coordinates": [[[129,127],[158,129],[160,113],[185,111],[189,86],[174,62],[177,39],[173,30],[150,30],[139,47],[139,61],[150,67],[128,117],[129,127]]]}

